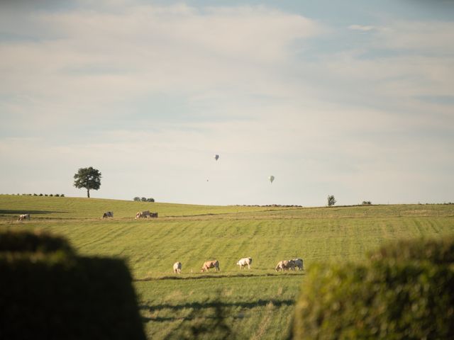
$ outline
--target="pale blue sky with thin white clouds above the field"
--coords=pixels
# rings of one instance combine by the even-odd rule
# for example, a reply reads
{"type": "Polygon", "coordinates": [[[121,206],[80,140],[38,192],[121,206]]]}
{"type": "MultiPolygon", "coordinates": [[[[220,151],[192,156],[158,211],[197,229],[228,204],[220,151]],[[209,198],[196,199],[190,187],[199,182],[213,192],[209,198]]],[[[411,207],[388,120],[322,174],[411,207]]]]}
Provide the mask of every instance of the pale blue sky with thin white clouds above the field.
{"type": "Polygon", "coordinates": [[[453,41],[443,0],[0,1],[0,193],[454,202],[453,41]]]}

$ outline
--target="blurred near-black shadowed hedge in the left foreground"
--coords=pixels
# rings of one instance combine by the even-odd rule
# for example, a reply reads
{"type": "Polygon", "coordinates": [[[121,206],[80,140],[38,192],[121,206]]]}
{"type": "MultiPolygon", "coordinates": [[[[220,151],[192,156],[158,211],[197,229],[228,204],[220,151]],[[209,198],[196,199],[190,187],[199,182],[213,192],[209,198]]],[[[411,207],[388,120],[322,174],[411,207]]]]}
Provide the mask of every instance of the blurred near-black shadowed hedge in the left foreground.
{"type": "Polygon", "coordinates": [[[0,339],[145,339],[123,261],[77,256],[48,234],[0,244],[0,339]]]}

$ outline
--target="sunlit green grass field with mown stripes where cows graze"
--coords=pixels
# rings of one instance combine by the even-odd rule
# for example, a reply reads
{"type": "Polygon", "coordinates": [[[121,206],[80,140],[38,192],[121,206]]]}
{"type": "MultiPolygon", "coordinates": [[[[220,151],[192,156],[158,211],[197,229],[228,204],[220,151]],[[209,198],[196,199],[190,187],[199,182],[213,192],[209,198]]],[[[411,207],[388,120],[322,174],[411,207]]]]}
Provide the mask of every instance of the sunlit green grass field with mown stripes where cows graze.
{"type": "Polygon", "coordinates": [[[42,229],[67,237],[80,254],[126,259],[149,339],[181,339],[212,322],[216,302],[239,339],[282,339],[305,272],[276,273],[278,261],[299,256],[307,271],[318,261],[362,261],[394,239],[454,234],[454,205],[272,208],[1,195],[0,227],[42,229]],[[108,210],[114,218],[102,220],[108,210]],[[160,217],[135,220],[139,210],[160,217]],[[16,221],[26,212],[30,221],[16,221]],[[236,266],[245,256],[253,257],[250,271],[236,266]],[[218,259],[220,273],[199,273],[209,259],[218,259]]]}

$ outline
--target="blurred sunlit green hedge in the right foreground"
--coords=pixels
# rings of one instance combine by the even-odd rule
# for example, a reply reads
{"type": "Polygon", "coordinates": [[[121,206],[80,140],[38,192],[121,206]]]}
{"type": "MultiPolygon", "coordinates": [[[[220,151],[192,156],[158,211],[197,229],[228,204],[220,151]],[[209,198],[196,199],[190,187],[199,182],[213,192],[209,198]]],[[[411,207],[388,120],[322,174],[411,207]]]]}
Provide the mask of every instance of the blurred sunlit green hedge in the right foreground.
{"type": "Polygon", "coordinates": [[[362,264],[311,266],[294,339],[454,339],[453,244],[402,241],[362,264]]]}

